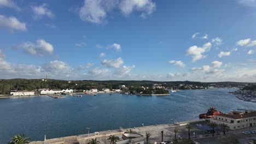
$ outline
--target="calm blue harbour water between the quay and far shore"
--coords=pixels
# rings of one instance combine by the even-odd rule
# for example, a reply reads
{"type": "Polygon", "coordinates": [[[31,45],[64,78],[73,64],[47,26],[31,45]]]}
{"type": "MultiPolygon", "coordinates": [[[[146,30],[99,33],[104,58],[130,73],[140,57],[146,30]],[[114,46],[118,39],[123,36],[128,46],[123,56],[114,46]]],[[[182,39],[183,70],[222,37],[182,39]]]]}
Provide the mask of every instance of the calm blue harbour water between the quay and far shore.
{"type": "Polygon", "coordinates": [[[218,110],[256,109],[256,103],[238,100],[228,89],[187,90],[168,96],[145,97],[114,93],[0,99],[0,143],[25,133],[32,140],[197,119],[214,104],[218,110]]]}

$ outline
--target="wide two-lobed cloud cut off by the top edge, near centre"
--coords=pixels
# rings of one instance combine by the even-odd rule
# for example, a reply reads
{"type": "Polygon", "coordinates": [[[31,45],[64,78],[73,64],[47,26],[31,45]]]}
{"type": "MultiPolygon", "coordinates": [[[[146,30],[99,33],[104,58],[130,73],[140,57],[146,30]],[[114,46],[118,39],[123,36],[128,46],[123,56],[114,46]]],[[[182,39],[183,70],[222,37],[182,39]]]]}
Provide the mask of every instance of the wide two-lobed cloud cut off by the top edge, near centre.
{"type": "Polygon", "coordinates": [[[124,15],[131,14],[134,10],[142,11],[141,17],[146,18],[156,9],[151,0],[84,0],[79,8],[79,16],[83,21],[101,24],[106,22],[107,13],[118,8],[124,15]]]}

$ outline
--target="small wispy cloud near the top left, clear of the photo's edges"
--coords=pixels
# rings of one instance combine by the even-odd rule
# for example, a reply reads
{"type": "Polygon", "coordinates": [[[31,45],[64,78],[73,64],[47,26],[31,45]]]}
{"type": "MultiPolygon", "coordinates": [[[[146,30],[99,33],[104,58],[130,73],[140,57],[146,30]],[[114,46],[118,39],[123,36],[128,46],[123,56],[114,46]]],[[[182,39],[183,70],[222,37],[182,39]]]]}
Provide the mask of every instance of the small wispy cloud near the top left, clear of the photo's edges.
{"type": "Polygon", "coordinates": [[[47,4],[42,4],[37,6],[32,6],[32,10],[34,12],[34,19],[40,19],[43,16],[48,16],[48,17],[54,17],[54,14],[49,10],[47,7],[47,4]]]}

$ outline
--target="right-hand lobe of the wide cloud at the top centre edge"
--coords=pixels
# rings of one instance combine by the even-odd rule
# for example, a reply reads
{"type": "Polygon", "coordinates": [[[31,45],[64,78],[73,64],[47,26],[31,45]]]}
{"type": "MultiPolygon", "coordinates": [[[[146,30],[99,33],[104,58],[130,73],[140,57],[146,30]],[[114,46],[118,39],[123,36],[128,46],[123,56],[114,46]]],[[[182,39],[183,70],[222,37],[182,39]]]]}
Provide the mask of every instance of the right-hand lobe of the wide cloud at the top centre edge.
{"type": "Polygon", "coordinates": [[[151,0],[123,0],[119,8],[125,15],[130,15],[133,10],[137,10],[142,11],[141,17],[147,17],[155,11],[156,5],[151,0]]]}

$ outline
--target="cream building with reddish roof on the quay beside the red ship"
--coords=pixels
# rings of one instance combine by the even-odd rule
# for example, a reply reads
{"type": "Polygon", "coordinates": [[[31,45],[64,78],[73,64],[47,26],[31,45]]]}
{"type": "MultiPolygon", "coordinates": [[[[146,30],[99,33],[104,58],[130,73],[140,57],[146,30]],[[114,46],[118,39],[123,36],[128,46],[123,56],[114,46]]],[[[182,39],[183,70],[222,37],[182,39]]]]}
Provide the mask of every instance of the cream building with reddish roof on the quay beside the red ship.
{"type": "Polygon", "coordinates": [[[216,115],[214,118],[211,118],[210,121],[217,124],[224,123],[228,125],[231,130],[252,127],[256,125],[256,111],[233,111],[216,115]]]}

